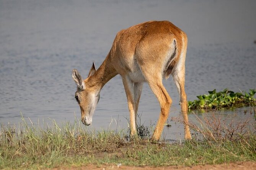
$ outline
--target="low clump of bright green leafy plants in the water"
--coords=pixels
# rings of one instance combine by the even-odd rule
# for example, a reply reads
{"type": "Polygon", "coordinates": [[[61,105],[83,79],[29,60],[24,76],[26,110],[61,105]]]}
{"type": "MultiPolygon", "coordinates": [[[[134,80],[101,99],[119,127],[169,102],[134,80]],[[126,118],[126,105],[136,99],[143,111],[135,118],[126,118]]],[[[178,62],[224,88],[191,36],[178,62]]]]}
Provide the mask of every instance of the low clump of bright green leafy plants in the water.
{"type": "Polygon", "coordinates": [[[254,94],[256,89],[250,89],[245,94],[225,88],[223,91],[208,91],[209,95],[197,96],[197,100],[188,101],[189,110],[221,109],[229,107],[256,106],[254,94]]]}

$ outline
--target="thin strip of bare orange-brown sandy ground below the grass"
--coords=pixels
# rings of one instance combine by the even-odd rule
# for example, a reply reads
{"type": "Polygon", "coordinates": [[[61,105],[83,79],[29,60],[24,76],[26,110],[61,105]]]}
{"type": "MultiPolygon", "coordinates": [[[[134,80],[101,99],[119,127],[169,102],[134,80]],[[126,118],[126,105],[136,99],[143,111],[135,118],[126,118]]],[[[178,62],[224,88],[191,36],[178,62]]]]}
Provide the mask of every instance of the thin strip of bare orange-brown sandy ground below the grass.
{"type": "Polygon", "coordinates": [[[134,167],[134,166],[123,166],[123,165],[88,165],[76,168],[59,167],[54,169],[72,169],[72,170],[253,170],[256,169],[256,162],[233,162],[229,164],[220,165],[196,165],[193,167],[183,166],[167,166],[167,167],[134,167]]]}

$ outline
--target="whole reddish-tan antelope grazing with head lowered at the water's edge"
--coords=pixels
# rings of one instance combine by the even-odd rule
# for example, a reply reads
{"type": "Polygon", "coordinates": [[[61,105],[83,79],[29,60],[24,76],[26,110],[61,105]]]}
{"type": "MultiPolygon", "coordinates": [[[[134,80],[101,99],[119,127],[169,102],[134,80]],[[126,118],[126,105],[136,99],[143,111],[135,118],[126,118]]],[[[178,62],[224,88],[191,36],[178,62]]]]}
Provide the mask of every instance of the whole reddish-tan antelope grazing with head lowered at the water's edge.
{"type": "Polygon", "coordinates": [[[184,137],[185,140],[190,140],[188,105],[184,89],[187,43],[187,35],[169,21],[148,21],[119,31],[106,59],[97,70],[93,63],[85,80],[76,69],[72,71],[73,80],[77,84],[75,99],[81,109],[83,124],[91,124],[103,86],[120,74],[130,112],[130,135],[137,135],[139,100],[143,82],[147,82],[161,108],[151,138],[158,141],[172,103],[162,80],[172,75],[180,96],[184,137]]]}

